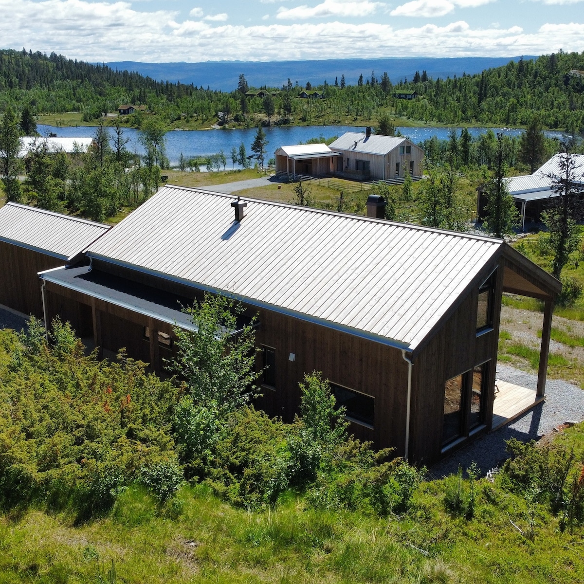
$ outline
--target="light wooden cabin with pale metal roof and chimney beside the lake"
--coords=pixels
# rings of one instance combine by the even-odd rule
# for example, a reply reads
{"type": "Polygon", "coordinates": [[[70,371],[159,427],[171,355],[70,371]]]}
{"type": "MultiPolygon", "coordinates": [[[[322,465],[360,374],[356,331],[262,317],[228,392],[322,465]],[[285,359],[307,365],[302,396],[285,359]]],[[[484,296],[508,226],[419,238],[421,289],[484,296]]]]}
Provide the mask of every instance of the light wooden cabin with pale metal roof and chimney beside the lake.
{"type": "Polygon", "coordinates": [[[335,175],[357,180],[403,179],[423,173],[424,151],[408,138],[346,132],[325,144],[283,146],[276,151],[276,174],[335,175]]]}

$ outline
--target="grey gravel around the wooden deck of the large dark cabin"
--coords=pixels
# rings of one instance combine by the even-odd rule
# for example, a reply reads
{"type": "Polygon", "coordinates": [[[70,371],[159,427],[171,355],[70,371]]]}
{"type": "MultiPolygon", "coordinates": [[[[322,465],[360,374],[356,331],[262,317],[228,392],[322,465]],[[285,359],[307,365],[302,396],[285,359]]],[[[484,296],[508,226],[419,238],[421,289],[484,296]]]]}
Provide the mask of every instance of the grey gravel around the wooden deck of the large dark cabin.
{"type": "MultiPolygon", "coordinates": [[[[536,375],[501,363],[497,365],[497,378],[531,390],[537,387],[536,375]]],[[[476,442],[434,465],[430,469],[430,475],[435,478],[444,477],[457,472],[459,464],[465,470],[472,461],[477,463],[484,475],[489,469],[500,466],[507,458],[505,440],[512,437],[523,442],[538,440],[566,420],[578,422],[584,420],[584,390],[577,385],[548,378],[545,384],[545,395],[544,402],[524,413],[520,418],[479,438],[476,442]]]]}

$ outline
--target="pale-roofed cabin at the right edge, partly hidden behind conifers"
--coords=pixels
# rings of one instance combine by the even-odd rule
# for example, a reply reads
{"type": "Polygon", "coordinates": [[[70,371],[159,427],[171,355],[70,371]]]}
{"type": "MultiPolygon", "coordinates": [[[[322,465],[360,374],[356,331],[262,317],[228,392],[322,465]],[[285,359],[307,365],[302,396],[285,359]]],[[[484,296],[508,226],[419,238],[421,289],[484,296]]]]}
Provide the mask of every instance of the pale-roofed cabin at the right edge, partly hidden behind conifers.
{"type": "MultiPolygon", "coordinates": [[[[579,196],[584,195],[584,154],[572,154],[575,161],[574,186],[579,190],[579,196]]],[[[522,231],[534,227],[541,222],[541,213],[547,208],[550,199],[558,194],[552,190],[552,177],[561,176],[559,165],[561,154],[555,154],[533,175],[512,176],[505,179],[509,194],[515,199],[519,211],[522,231]]],[[[485,218],[486,194],[484,186],[477,189],[477,217],[485,218]]]]}

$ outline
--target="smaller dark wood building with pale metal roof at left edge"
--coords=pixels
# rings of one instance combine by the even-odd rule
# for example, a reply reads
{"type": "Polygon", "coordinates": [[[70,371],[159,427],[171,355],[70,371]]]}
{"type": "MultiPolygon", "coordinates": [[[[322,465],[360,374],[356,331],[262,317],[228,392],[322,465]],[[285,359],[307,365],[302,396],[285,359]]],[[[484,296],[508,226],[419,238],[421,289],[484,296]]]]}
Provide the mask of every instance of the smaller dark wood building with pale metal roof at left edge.
{"type": "Polygon", "coordinates": [[[0,208],[0,304],[43,318],[37,272],[78,258],[108,227],[18,203],[0,208]]]}

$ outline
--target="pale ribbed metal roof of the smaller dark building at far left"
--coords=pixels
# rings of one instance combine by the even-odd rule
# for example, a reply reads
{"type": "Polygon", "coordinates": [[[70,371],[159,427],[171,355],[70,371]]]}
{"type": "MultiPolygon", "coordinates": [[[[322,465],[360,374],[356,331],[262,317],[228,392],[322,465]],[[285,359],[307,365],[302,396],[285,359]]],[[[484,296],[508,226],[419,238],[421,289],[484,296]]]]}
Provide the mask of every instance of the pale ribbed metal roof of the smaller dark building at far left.
{"type": "Polygon", "coordinates": [[[37,207],[0,207],[0,241],[69,260],[109,230],[109,225],[37,207]]]}

